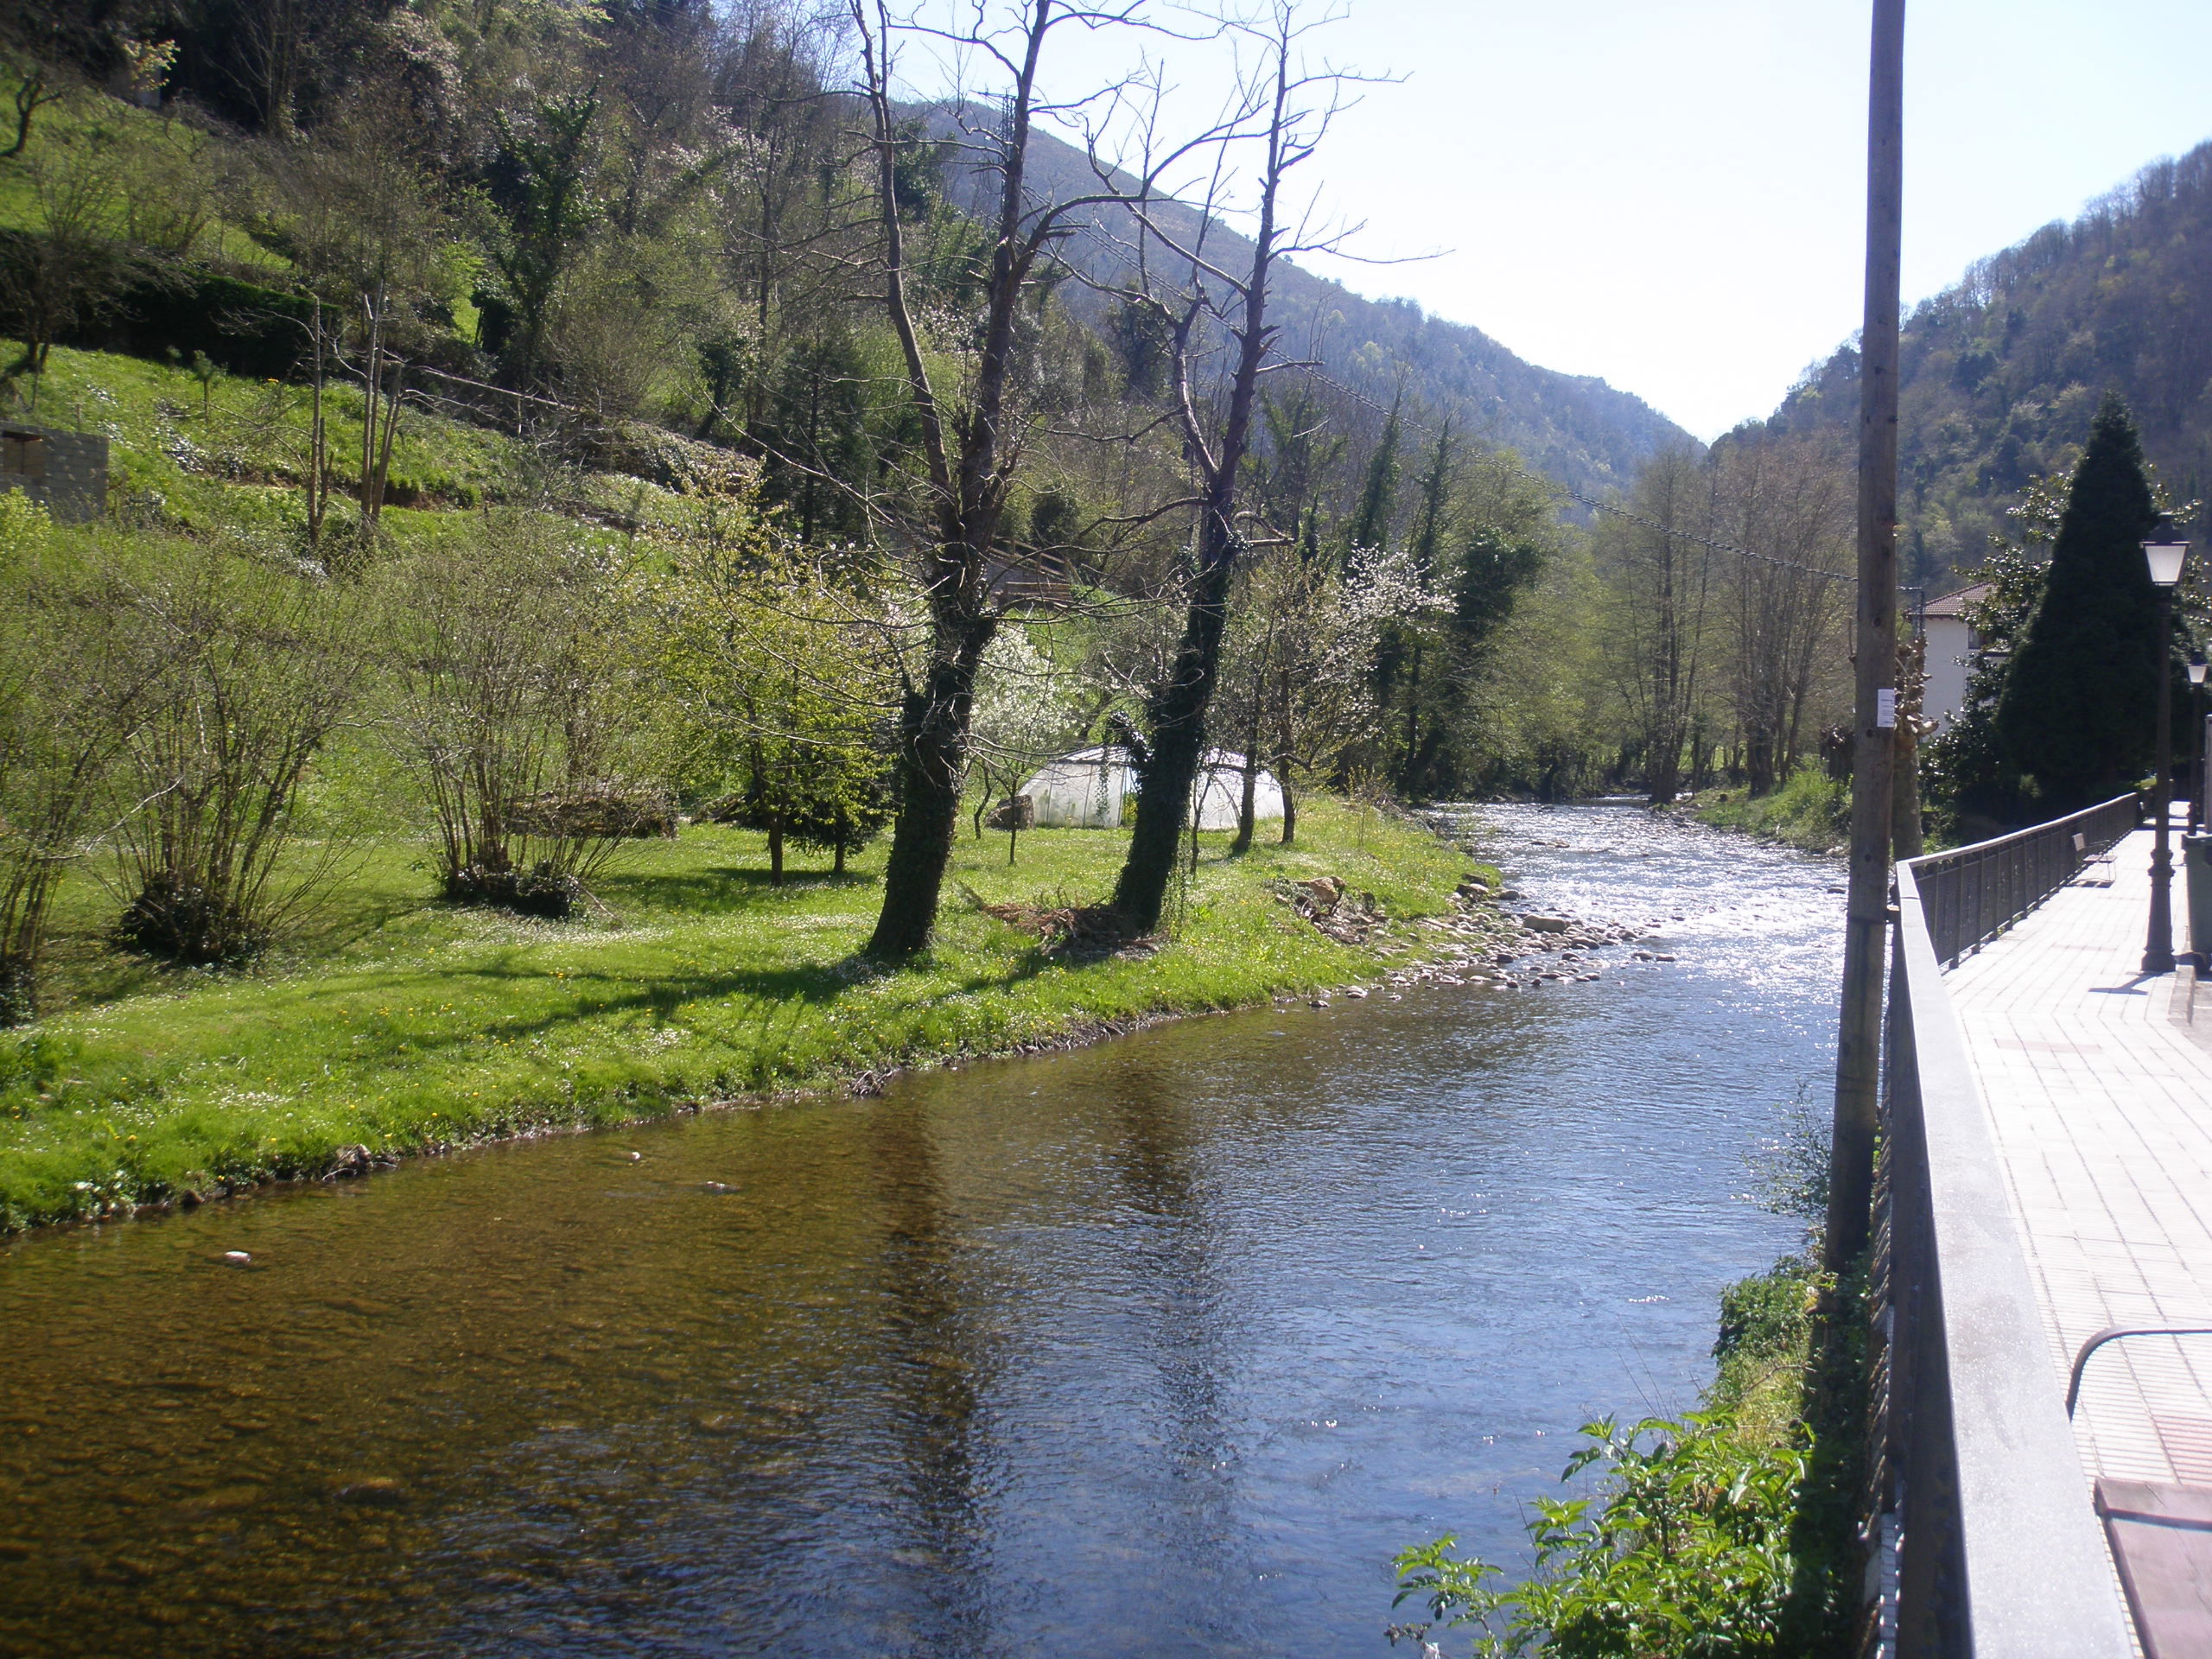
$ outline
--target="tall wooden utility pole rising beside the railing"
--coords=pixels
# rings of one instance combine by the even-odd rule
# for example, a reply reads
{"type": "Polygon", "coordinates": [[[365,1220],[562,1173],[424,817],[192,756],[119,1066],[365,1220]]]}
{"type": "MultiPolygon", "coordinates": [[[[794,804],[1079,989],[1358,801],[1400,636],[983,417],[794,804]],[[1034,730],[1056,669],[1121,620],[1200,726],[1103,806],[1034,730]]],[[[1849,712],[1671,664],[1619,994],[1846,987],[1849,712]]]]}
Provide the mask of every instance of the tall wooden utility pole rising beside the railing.
{"type": "Polygon", "coordinates": [[[1898,243],[1905,204],[1905,0],[1874,0],[1867,97],[1867,316],[1858,336],[1858,701],[1851,887],[1827,1166],[1829,1267],[1867,1248],[1880,1126],[1889,792],[1898,721],[1898,243]]]}

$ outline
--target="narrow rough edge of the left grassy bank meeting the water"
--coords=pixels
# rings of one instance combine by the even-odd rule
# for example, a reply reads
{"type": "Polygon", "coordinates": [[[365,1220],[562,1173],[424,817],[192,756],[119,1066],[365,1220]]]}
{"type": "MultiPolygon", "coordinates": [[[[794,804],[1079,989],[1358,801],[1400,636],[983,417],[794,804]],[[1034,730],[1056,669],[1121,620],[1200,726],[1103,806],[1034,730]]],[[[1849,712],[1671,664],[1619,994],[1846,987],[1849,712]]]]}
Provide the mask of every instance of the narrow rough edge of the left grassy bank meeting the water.
{"type": "Polygon", "coordinates": [[[964,1064],[989,1060],[1024,1060],[1046,1053],[1071,1053],[1113,1037],[1137,1035],[1139,1031],[1150,1031],[1199,1015],[1248,1013],[1263,1006],[1283,1006],[1285,1002],[1296,1002],[1298,998],[1314,998],[1318,1006],[1327,1006],[1332,991],[1367,993],[1394,973],[1405,973],[1407,969],[1442,960],[1453,949],[1464,949],[1471,942],[1489,945],[1493,949],[1506,942],[1517,947],[1524,942],[1520,925],[1513,920],[1513,914],[1504,909],[1502,894],[1511,889],[1506,889],[1502,872],[1478,856],[1473,843],[1467,841],[1464,827],[1447,827],[1444,823],[1431,821],[1425,812],[1394,812],[1391,816],[1467,858],[1467,874],[1460,878],[1458,889],[1442,898],[1442,905],[1447,916],[1455,914],[1471,927],[1431,931],[1429,925],[1438,922],[1433,914],[1385,918],[1378,927],[1374,927],[1367,940],[1345,945],[1345,949],[1356,951],[1363,960],[1349,978],[1338,978],[1329,987],[1314,984],[1301,975],[1285,975],[1261,987],[1254,995],[1221,1000],[1217,989],[1208,987],[1201,978],[1194,987],[1188,987],[1183,995],[1168,995],[1161,1004],[1139,1013],[1097,1018],[1077,1015],[1044,1035],[1033,1035],[1020,1042],[984,1046],[962,1042],[942,1048],[925,1048],[898,1055],[889,1060],[889,1064],[823,1075],[772,1091],[750,1091],[726,1097],[699,1097],[688,1091],[668,1091],[664,1095],[633,1093],[619,1104],[604,1097],[593,1102],[542,1099],[518,1104],[482,1133],[427,1135],[405,1146],[387,1146],[378,1150],[369,1150],[365,1146],[341,1146],[334,1152],[327,1148],[310,1152],[307,1148],[276,1146],[265,1159],[259,1161],[257,1168],[226,1170],[221,1177],[190,1188],[170,1190],[164,1183],[155,1183],[142,1186],[128,1194],[93,1194],[88,1203],[49,1214],[24,1212],[18,1206],[0,1206],[0,1248],[15,1239],[60,1228],[159,1217],[175,1210],[199,1208],[201,1203],[241,1199],[279,1188],[363,1179],[376,1170],[400,1168],[403,1164],[411,1164],[416,1159],[451,1157],[456,1152],[500,1146],[507,1141],[531,1141],[551,1135],[580,1135],[597,1130],[619,1133],[624,1128],[639,1128],[710,1110],[763,1110],[770,1106],[830,1099],[836,1095],[872,1097],[880,1095],[896,1077],[953,1071],[964,1064]]]}

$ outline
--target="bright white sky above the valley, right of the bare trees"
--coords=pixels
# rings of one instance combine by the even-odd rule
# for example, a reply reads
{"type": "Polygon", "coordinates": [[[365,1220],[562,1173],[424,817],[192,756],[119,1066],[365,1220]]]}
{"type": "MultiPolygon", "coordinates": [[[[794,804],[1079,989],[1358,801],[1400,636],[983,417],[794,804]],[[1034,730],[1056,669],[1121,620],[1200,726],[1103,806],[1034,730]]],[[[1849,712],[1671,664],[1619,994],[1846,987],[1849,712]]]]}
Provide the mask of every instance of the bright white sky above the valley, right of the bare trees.
{"type": "MultiPolygon", "coordinates": [[[[1867,0],[1349,0],[1405,73],[1316,168],[1369,257],[1312,261],[1701,438],[1860,316],[1867,0]]],[[[1905,296],[2212,137],[2208,0],[1909,0],[1905,296]]]]}

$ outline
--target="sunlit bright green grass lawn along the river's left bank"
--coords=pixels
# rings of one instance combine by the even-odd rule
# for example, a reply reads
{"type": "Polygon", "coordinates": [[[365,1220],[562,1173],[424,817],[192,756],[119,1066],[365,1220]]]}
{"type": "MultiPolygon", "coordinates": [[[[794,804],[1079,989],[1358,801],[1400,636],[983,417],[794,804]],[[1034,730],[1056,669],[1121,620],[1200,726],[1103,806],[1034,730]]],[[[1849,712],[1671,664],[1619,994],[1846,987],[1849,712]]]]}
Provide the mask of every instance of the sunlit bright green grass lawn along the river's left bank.
{"type": "MultiPolygon", "coordinates": [[[[604,914],[535,922],[429,902],[427,849],[376,843],[252,973],[164,971],[104,942],[117,900],[64,887],[49,1015],[0,1035],[0,1232],[319,1175],[341,1148],[429,1150],[615,1124],[891,1066],[1051,1044],[1102,1022],[1367,978],[1413,940],[1323,938],[1270,883],[1340,876],[1394,920],[1442,914],[1471,863],[1413,823],[1314,799],[1301,845],[1206,836],[1157,953],[1071,962],[967,900],[1104,894],[1119,832],[962,838],[938,949],[856,967],[883,845],[768,885],[759,834],[626,847],[604,914]]],[[[1394,936],[1396,933],[1396,936],[1394,936]]]]}

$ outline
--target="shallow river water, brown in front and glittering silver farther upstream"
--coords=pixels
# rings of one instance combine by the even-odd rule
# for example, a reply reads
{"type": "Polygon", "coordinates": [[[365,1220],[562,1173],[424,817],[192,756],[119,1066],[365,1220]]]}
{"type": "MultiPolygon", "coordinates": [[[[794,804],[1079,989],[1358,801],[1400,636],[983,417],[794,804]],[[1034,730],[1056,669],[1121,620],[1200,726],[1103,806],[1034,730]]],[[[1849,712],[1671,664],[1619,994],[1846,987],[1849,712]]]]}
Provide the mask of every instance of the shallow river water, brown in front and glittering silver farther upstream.
{"type": "Polygon", "coordinates": [[[1387,1652],[1394,1551],[1694,1405],[1832,1046],[1838,865],[1475,834],[1679,960],[18,1241],[0,1652],[1387,1652]]]}

